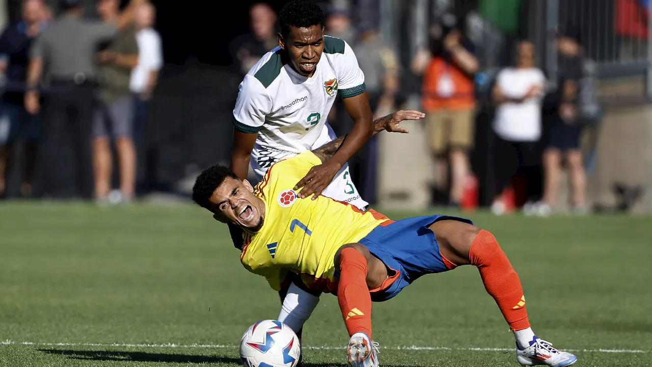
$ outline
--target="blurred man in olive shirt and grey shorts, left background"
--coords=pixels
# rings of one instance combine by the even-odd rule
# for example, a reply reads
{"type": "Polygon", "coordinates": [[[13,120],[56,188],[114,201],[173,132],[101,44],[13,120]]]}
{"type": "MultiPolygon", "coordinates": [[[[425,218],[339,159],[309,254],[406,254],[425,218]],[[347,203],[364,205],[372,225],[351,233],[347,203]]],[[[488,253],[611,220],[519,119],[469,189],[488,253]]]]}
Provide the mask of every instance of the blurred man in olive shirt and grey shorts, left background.
{"type": "MultiPolygon", "coordinates": [[[[105,23],[119,15],[119,0],[98,0],[97,11],[105,23]]],[[[136,147],[134,146],[134,100],[130,95],[132,70],[138,65],[136,28],[120,29],[106,48],[98,52],[100,103],[93,120],[93,166],[95,199],[112,204],[129,202],[136,191],[136,147]],[[111,191],[111,138],[119,161],[120,189],[111,191]],[[111,196],[109,194],[111,193],[111,196]]]]}

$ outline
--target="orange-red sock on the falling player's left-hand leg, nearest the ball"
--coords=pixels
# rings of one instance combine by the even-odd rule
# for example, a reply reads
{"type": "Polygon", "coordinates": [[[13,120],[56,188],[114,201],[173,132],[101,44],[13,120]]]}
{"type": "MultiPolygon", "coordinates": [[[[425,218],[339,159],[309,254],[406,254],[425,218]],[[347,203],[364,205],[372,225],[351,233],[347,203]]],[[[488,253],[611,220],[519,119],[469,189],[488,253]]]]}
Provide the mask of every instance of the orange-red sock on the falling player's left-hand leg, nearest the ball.
{"type": "Polygon", "coordinates": [[[371,338],[371,295],[366,285],[366,259],[357,249],[340,253],[340,281],[337,302],[349,336],[364,332],[371,338]]]}

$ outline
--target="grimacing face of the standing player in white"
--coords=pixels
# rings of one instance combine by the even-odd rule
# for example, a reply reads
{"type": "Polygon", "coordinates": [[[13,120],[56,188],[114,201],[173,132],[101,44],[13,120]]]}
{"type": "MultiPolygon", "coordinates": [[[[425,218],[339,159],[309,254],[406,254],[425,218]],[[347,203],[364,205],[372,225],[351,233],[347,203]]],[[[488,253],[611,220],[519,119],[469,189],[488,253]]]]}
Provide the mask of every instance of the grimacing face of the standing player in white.
{"type": "Polygon", "coordinates": [[[324,27],[290,27],[286,37],[278,34],[278,45],[288,52],[292,68],[303,76],[312,76],[324,50],[324,27]]]}

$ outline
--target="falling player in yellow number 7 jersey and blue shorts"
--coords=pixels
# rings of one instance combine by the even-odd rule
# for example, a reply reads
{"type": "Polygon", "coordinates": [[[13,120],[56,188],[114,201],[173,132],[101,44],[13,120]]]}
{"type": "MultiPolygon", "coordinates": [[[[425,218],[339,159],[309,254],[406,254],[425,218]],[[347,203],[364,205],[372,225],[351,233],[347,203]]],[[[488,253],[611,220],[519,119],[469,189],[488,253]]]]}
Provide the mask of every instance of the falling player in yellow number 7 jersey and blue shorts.
{"type": "MultiPolygon", "coordinates": [[[[423,117],[418,111],[395,112],[374,121],[374,135],[383,130],[407,133],[399,122],[423,117]]],[[[514,331],[520,364],[563,367],[576,362],[574,355],[555,349],[532,331],[518,274],[490,232],[458,217],[393,221],[328,197],[298,197],[299,187],[311,184],[302,179],[306,173],[331,157],[345,139],[278,161],[256,187],[220,165],[201,172],[193,187],[197,204],[218,221],[243,229],[244,267],[264,276],[282,297],[288,294],[279,321],[299,334],[316,305],[310,297],[332,293],[351,337],[349,364],[378,366],[372,301],[393,298],[424,274],[471,264],[514,331]],[[298,299],[288,302],[293,287],[303,293],[293,291],[298,299]],[[293,316],[296,313],[299,316],[293,316]]]]}

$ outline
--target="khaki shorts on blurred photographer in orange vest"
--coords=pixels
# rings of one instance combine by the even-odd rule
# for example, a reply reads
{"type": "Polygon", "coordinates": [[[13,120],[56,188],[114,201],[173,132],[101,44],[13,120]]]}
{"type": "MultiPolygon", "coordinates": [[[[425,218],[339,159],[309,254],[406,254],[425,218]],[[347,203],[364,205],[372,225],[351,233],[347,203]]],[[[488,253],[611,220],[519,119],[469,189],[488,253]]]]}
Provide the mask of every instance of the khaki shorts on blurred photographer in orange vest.
{"type": "Polygon", "coordinates": [[[442,154],[451,148],[464,150],[473,148],[474,117],[475,108],[426,113],[432,152],[442,154]]]}

